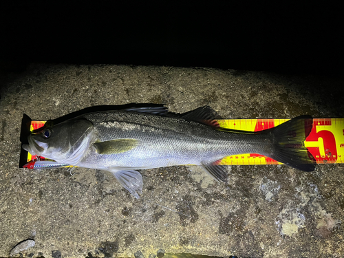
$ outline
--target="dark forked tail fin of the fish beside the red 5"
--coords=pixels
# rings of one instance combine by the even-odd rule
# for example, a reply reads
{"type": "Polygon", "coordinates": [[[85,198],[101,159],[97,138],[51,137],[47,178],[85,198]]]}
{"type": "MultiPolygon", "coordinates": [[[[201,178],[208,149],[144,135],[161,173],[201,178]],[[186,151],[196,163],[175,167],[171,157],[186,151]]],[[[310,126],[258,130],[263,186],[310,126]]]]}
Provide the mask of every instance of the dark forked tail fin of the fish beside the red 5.
{"type": "Polygon", "coordinates": [[[302,171],[313,171],[316,162],[304,145],[312,131],[311,116],[298,116],[271,130],[272,154],[270,158],[302,171]]]}

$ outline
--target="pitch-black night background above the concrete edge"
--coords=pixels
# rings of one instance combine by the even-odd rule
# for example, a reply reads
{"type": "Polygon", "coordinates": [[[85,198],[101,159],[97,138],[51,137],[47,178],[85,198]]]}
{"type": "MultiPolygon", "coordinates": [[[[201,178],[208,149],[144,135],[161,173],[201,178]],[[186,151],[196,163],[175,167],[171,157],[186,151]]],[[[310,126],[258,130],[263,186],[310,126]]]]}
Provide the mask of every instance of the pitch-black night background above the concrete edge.
{"type": "Polygon", "coordinates": [[[1,70],[28,63],[172,65],[341,76],[343,18],[323,3],[8,1],[1,70]]]}

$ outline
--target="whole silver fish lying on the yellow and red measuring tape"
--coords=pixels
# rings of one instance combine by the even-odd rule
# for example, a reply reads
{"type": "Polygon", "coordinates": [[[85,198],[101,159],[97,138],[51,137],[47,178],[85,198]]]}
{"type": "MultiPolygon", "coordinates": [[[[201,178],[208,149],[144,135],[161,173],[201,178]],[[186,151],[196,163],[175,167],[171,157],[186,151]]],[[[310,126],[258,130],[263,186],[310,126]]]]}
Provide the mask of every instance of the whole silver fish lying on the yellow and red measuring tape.
{"type": "Polygon", "coordinates": [[[183,114],[166,107],[96,111],[56,125],[47,122],[28,136],[23,149],[54,160],[52,166],[110,171],[137,199],[143,186],[138,170],[194,164],[215,180],[228,182],[220,160],[244,153],[266,155],[301,171],[315,169],[316,162],[304,145],[312,130],[312,116],[292,118],[258,132],[220,127],[216,117],[209,106],[183,114]]]}

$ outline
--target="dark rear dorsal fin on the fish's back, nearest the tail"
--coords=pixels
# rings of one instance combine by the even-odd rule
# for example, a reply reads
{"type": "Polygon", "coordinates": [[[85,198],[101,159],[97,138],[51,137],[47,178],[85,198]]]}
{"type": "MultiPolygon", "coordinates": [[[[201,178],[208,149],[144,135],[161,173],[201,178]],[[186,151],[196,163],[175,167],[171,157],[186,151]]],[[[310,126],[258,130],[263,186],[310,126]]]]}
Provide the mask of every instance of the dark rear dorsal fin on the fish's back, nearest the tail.
{"type": "Polygon", "coordinates": [[[185,120],[200,122],[204,125],[209,125],[215,128],[219,127],[218,122],[215,120],[215,118],[218,118],[217,113],[209,106],[198,107],[197,109],[186,112],[181,116],[185,120]]]}

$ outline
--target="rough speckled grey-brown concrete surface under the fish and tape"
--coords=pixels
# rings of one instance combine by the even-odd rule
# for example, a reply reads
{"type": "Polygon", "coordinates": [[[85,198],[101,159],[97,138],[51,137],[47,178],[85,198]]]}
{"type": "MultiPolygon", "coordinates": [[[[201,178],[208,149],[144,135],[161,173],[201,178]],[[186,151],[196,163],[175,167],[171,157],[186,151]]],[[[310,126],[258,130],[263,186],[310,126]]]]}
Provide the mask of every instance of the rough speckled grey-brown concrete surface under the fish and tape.
{"type": "Polygon", "coordinates": [[[23,113],[47,120],[92,105],[210,105],[223,118],[343,115],[343,80],[264,72],[118,65],[30,65],[1,76],[0,257],[343,257],[344,166],[312,173],[231,166],[220,184],[196,166],[142,171],[135,200],[110,173],[18,169],[23,113]]]}

